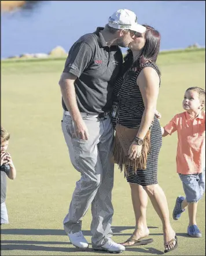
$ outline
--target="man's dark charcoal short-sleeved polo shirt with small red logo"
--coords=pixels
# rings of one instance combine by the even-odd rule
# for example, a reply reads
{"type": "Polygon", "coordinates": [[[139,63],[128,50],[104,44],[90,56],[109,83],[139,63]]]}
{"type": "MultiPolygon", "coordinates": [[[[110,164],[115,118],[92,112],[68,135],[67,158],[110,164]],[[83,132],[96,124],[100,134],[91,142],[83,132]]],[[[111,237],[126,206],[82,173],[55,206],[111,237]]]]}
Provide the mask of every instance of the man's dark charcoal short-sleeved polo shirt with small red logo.
{"type": "MultiPolygon", "coordinates": [[[[107,46],[101,30],[83,35],[69,50],[65,73],[72,73],[76,100],[80,112],[100,114],[111,110],[113,85],[122,70],[122,51],[119,46],[107,46]]],[[[62,107],[67,107],[62,100],[62,107]]]]}

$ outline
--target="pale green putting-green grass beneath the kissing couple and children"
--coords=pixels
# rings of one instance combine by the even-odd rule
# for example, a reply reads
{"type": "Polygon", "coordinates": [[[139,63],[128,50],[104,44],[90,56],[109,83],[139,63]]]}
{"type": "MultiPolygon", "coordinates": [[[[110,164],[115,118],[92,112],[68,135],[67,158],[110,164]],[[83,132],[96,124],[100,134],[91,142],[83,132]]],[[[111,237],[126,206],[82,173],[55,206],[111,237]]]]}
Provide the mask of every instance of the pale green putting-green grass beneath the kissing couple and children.
{"type": "MultiPolygon", "coordinates": [[[[157,109],[165,125],[182,110],[182,98],[189,86],[205,86],[205,50],[161,53],[161,88],[157,109]]],[[[61,131],[61,93],[58,86],[64,60],[2,62],[1,125],[11,133],[9,152],[17,168],[17,178],[8,180],[6,205],[9,225],[3,225],[2,255],[97,255],[80,252],[69,243],[62,230],[75,182],[74,170],[61,131]]],[[[170,209],[183,194],[175,167],[176,134],[163,139],[159,158],[159,183],[170,209]]],[[[113,239],[125,241],[135,221],[130,188],[115,169],[113,188],[113,239]]],[[[170,255],[205,255],[205,196],[198,205],[198,226],[203,237],[187,237],[187,212],[172,227],[179,248],[170,255]]],[[[148,204],[147,222],[152,244],[128,248],[122,255],[153,255],[163,251],[160,219],[148,204]]],[[[83,218],[83,230],[90,240],[90,210],[83,218]]],[[[98,255],[104,255],[103,253],[98,255]]]]}

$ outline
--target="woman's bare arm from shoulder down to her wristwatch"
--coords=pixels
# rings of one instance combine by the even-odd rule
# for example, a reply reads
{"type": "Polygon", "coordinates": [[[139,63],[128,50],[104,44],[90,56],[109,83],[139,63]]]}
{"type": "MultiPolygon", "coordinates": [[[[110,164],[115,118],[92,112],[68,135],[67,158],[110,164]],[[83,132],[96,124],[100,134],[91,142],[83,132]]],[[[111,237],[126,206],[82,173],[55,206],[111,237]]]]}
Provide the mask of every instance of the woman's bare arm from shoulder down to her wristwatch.
{"type": "Polygon", "coordinates": [[[139,127],[137,137],[144,139],[153,117],[156,113],[157,98],[159,95],[160,78],[156,70],[152,67],[145,67],[137,78],[142,99],[144,101],[145,110],[142,116],[141,125],[139,127]]]}

